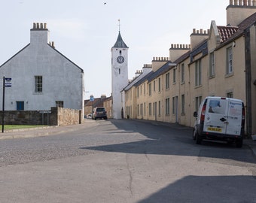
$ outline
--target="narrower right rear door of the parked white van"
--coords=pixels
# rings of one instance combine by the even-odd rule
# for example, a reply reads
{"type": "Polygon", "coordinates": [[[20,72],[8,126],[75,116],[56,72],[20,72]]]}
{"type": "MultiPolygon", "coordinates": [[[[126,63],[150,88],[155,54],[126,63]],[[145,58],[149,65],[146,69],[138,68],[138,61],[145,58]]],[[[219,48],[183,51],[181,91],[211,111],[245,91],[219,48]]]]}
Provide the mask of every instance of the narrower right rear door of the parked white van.
{"type": "Polygon", "coordinates": [[[242,127],[242,101],[229,99],[227,111],[227,135],[240,135],[242,127]]]}

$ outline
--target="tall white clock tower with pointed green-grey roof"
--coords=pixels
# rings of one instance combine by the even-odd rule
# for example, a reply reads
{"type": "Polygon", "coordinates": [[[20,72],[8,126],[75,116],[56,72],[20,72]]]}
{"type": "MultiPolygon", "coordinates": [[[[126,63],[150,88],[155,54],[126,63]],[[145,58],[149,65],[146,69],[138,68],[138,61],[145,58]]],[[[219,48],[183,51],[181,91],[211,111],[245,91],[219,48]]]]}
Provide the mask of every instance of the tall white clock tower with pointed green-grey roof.
{"type": "MultiPolygon", "coordinates": [[[[128,84],[128,49],[120,30],[114,47],[111,48],[111,80],[112,80],[112,115],[114,119],[122,118],[122,90],[128,84]]],[[[124,111],[124,109],[123,109],[124,111]]]]}

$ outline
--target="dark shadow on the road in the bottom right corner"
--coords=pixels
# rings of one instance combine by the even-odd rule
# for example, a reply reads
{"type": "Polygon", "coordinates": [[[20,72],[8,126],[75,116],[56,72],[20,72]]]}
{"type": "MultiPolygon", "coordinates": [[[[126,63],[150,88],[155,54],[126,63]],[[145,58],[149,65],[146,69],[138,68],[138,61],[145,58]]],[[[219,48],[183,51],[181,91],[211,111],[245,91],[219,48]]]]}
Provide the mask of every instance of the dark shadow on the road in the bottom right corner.
{"type": "Polygon", "coordinates": [[[256,202],[254,185],[251,176],[187,176],[138,202],[256,202]]]}

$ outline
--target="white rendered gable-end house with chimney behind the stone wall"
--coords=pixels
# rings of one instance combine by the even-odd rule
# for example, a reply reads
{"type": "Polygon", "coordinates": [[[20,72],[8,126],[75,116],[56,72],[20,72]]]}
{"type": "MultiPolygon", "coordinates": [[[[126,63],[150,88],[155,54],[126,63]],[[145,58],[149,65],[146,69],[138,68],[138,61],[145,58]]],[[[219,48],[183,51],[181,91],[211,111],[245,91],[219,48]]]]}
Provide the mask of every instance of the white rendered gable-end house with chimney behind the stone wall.
{"type": "Polygon", "coordinates": [[[84,71],[49,42],[46,23],[33,24],[30,43],[0,66],[0,75],[11,78],[11,87],[5,88],[6,111],[58,106],[84,112],[84,71]]]}

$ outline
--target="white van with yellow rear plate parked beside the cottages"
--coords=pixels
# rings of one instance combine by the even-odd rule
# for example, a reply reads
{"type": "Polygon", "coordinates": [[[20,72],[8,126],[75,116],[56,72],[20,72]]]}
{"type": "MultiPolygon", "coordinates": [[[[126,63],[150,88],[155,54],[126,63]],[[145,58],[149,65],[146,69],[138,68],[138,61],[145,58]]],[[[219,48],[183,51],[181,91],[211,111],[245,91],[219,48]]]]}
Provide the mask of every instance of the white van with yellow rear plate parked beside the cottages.
{"type": "Polygon", "coordinates": [[[193,139],[201,144],[203,139],[235,143],[242,147],[245,132],[245,108],[242,100],[208,96],[204,98],[194,125],[193,139]]]}

